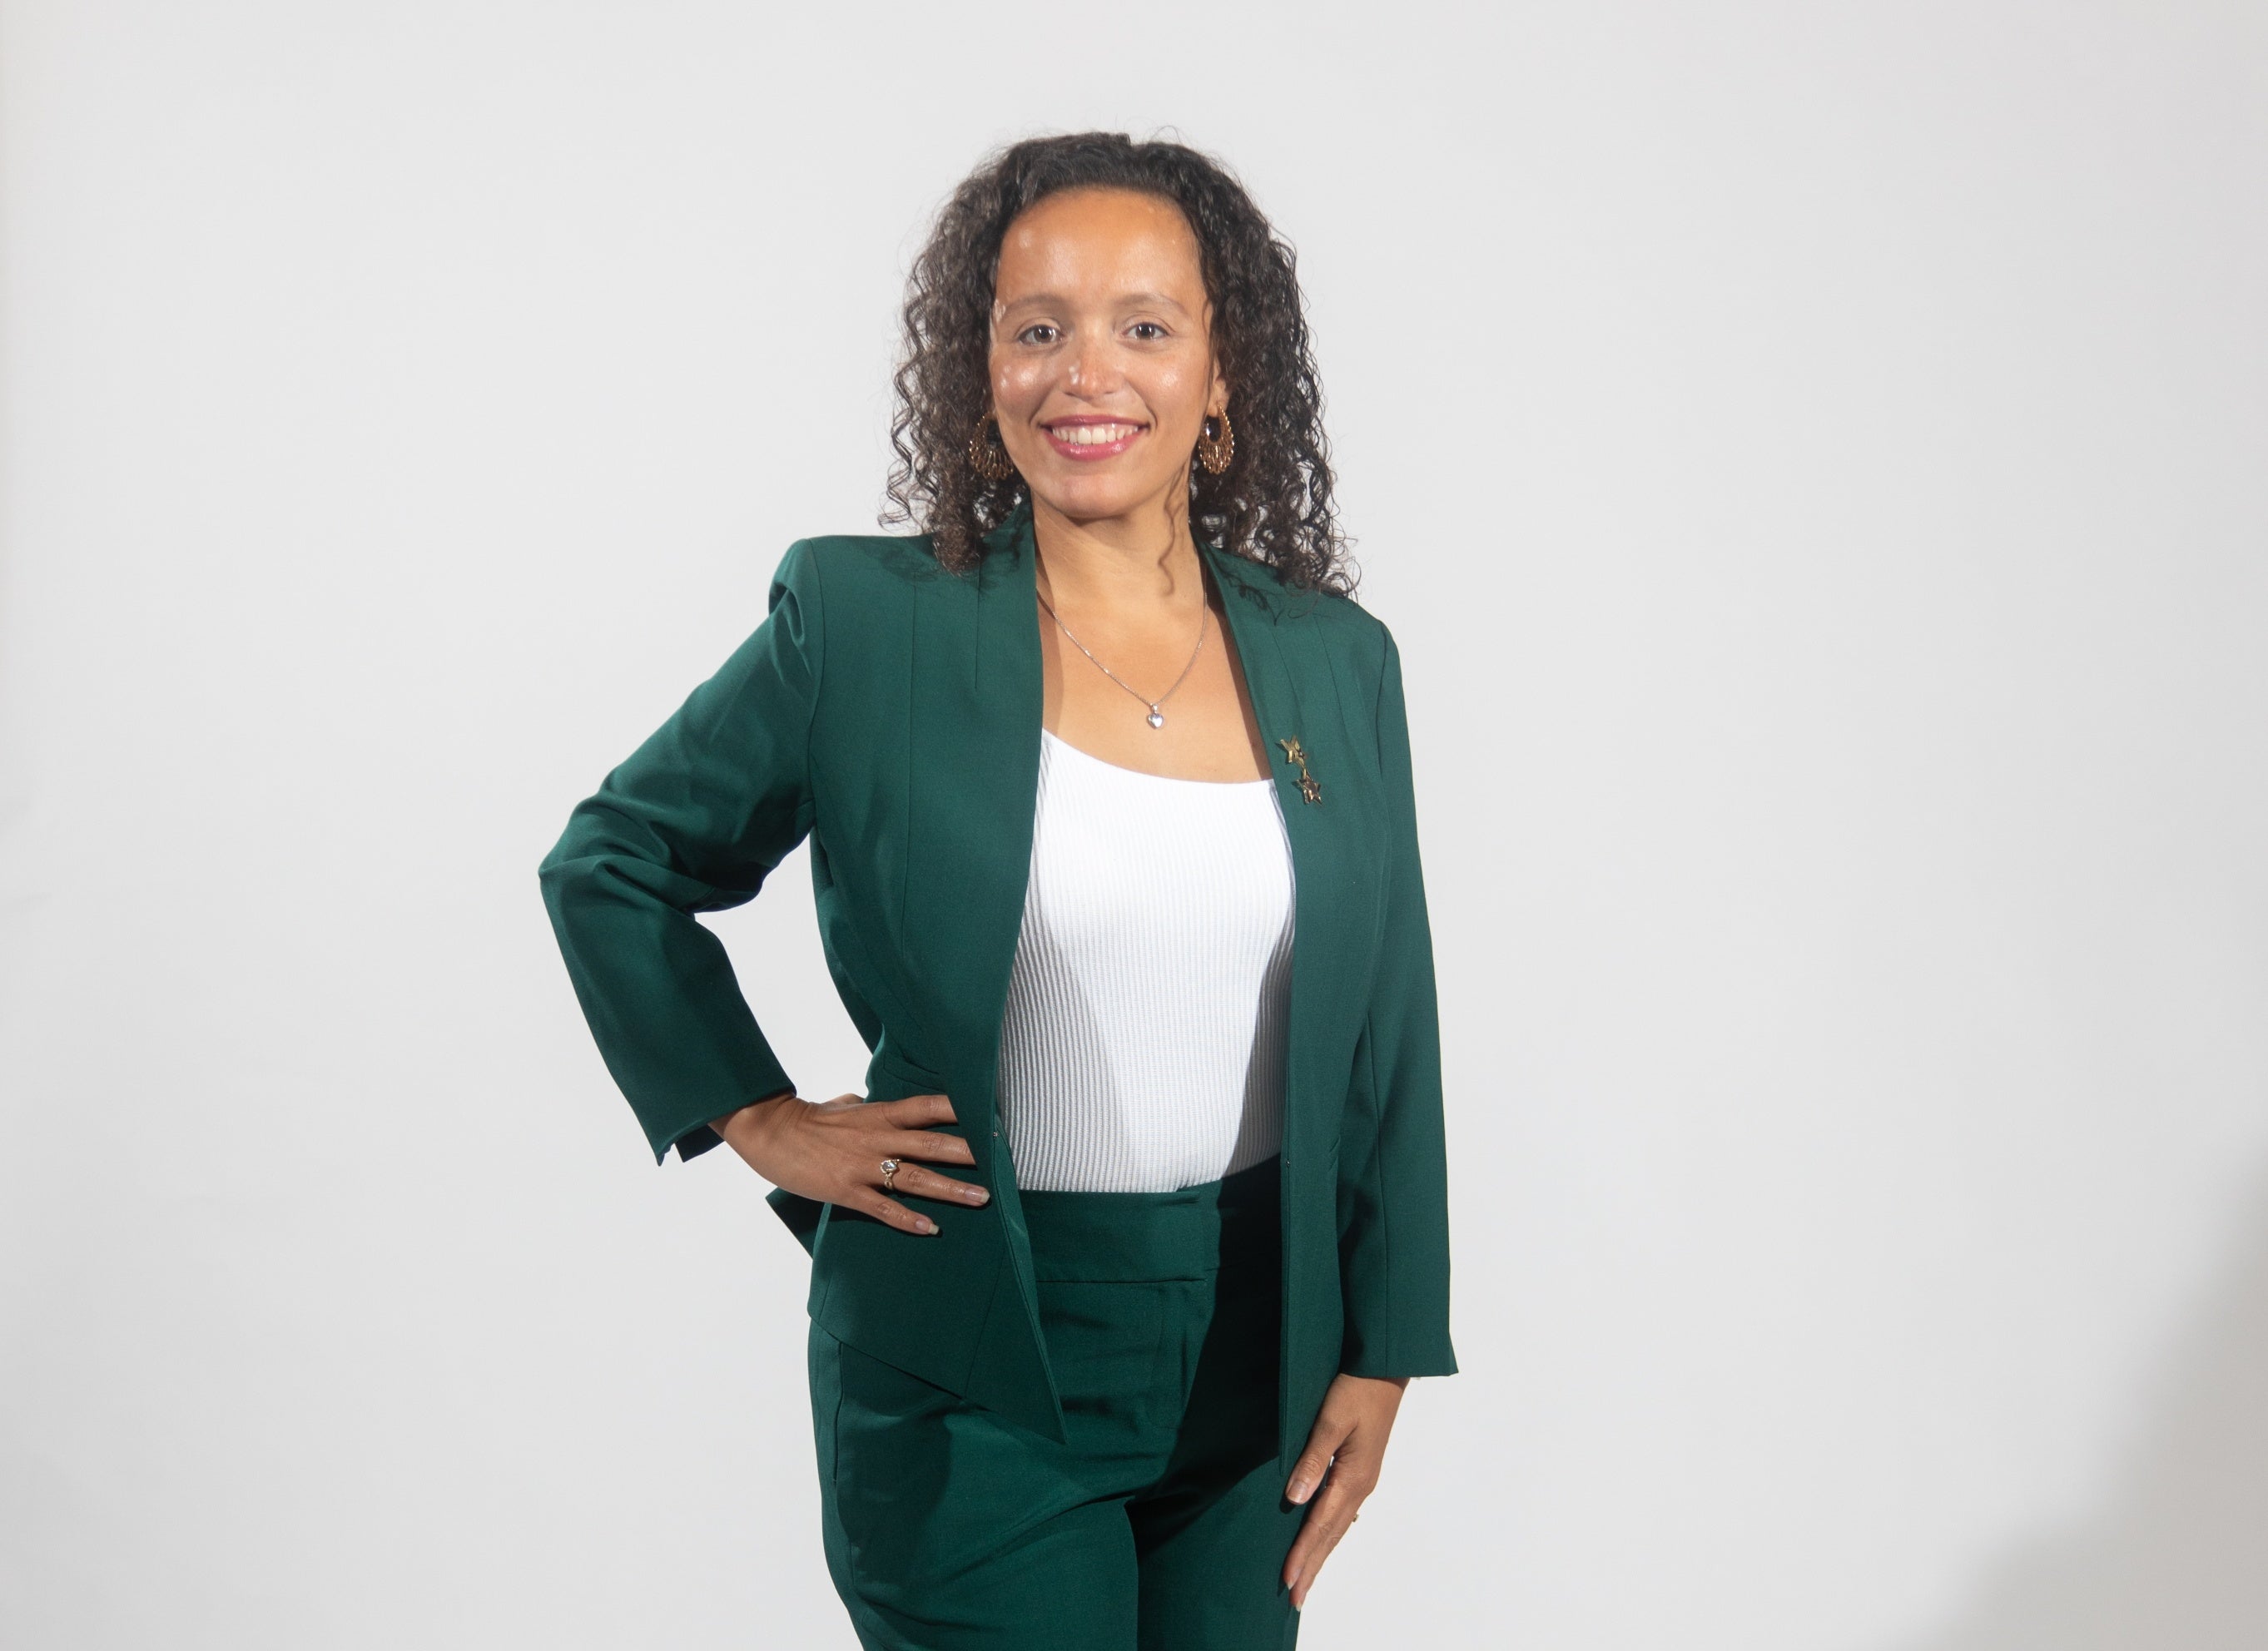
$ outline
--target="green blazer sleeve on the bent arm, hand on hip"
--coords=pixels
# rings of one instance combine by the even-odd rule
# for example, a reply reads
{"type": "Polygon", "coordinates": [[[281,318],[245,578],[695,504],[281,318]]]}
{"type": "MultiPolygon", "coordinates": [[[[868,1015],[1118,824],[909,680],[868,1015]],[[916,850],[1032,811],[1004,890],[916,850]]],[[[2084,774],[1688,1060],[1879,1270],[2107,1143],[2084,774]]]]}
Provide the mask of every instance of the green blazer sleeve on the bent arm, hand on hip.
{"type": "Polygon", "coordinates": [[[660,1163],[710,1118],[792,1091],[699,921],[755,898],[812,828],[819,569],[789,547],[733,658],[567,816],[540,882],[567,977],[660,1163]]]}

